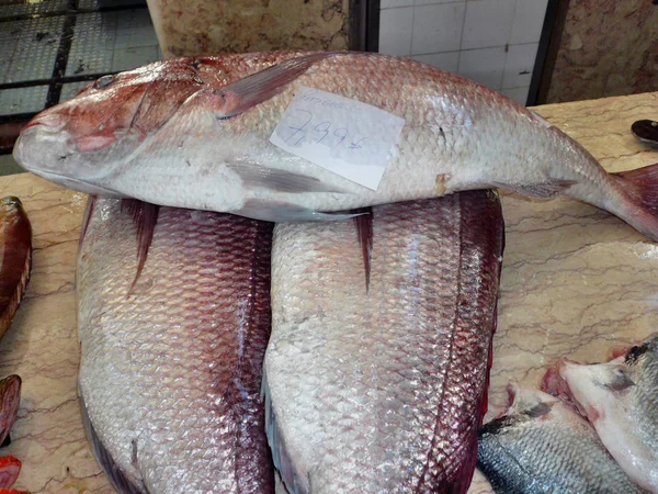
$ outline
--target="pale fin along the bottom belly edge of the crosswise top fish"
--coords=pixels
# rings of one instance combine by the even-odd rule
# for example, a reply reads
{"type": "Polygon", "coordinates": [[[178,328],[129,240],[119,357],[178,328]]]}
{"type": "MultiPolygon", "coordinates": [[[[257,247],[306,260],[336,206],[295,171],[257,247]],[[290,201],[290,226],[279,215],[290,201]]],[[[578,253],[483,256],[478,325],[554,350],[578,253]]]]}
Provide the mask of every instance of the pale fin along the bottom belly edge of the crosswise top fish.
{"type": "Polygon", "coordinates": [[[261,201],[250,199],[239,210],[230,211],[232,214],[262,220],[265,222],[317,222],[349,220],[362,213],[320,213],[296,204],[276,201],[261,201]]]}

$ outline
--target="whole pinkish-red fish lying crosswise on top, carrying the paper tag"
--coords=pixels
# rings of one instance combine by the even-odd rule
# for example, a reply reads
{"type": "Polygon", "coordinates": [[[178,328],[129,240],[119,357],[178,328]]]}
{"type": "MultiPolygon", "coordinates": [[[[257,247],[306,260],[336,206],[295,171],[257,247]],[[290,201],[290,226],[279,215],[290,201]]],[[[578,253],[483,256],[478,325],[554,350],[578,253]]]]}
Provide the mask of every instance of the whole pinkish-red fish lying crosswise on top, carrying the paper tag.
{"type": "MultiPolygon", "coordinates": [[[[295,133],[303,123],[288,127],[295,133]]],[[[309,145],[351,150],[368,142],[361,146],[336,128],[320,144],[324,128],[304,131],[309,145]]],[[[29,122],[13,155],[25,169],[83,192],[268,221],[324,220],[461,190],[564,193],[658,239],[658,167],[606,173],[582,146],[501,94],[372,53],[188,57],[103,76],[29,122]],[[270,142],[302,88],[405,120],[376,190],[270,142]]]]}

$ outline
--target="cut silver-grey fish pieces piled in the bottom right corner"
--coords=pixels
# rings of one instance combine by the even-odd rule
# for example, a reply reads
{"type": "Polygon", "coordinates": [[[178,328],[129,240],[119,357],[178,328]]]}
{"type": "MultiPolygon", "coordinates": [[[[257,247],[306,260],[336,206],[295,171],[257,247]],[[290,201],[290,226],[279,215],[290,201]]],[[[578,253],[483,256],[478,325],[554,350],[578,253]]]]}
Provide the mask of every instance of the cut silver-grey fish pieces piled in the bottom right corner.
{"type": "Polygon", "coordinates": [[[606,363],[564,358],[544,378],[551,394],[510,385],[478,467],[497,493],[658,492],[657,385],[658,335],[606,363]]]}

